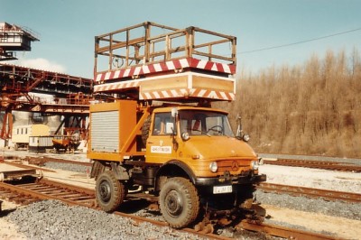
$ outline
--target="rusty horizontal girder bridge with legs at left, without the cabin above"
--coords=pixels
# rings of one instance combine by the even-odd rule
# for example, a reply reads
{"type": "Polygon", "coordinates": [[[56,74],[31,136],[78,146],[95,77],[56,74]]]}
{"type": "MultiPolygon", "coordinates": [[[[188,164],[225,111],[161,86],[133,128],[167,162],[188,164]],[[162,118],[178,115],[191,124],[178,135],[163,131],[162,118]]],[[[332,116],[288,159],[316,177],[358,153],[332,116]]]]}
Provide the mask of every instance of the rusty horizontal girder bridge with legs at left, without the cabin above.
{"type": "Polygon", "coordinates": [[[61,115],[66,134],[78,130],[85,138],[89,103],[101,98],[93,95],[92,79],[4,63],[0,63],[0,89],[5,112],[0,138],[5,140],[12,137],[13,111],[61,115]]]}

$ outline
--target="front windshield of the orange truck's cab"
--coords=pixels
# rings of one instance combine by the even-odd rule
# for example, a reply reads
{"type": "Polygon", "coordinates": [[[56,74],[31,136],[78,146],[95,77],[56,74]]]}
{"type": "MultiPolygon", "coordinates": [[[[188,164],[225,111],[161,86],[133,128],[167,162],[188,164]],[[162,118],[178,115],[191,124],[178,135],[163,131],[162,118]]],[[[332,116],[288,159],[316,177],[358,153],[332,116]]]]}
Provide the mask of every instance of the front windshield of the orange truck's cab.
{"type": "Polygon", "coordinates": [[[218,112],[180,110],[180,133],[190,135],[227,135],[234,134],[228,122],[227,115],[218,112]]]}

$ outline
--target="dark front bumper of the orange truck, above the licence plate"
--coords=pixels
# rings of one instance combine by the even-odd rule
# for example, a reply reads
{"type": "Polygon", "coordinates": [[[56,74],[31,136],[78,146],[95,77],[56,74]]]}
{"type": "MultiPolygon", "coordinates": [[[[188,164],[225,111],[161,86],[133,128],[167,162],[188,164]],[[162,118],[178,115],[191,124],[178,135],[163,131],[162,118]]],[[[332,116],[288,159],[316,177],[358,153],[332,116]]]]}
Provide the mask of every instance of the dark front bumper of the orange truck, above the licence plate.
{"type": "Polygon", "coordinates": [[[245,185],[256,184],[267,180],[265,174],[261,175],[247,175],[247,176],[229,176],[218,178],[197,178],[195,185],[199,187],[205,186],[221,186],[221,185],[245,185]]]}

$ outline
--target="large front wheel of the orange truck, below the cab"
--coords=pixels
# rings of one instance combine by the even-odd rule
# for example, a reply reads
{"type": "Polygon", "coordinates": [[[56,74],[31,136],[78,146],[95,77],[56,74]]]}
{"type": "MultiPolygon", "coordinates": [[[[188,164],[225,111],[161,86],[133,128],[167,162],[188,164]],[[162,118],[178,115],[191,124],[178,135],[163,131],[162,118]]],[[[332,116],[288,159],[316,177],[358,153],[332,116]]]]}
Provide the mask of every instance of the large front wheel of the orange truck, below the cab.
{"type": "Polygon", "coordinates": [[[197,189],[184,178],[171,178],[164,182],[159,197],[162,216],[171,227],[189,226],[199,215],[197,189]]]}

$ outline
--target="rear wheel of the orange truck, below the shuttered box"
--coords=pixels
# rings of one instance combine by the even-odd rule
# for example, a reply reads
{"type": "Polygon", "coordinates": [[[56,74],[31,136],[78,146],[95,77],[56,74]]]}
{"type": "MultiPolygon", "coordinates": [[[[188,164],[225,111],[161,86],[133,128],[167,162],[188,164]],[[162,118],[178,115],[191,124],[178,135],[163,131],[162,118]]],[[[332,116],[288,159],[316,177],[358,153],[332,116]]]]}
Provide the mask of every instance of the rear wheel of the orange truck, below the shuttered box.
{"type": "Polygon", "coordinates": [[[97,205],[106,212],[113,212],[125,199],[125,186],[116,179],[113,171],[100,173],[96,183],[97,205]]]}

